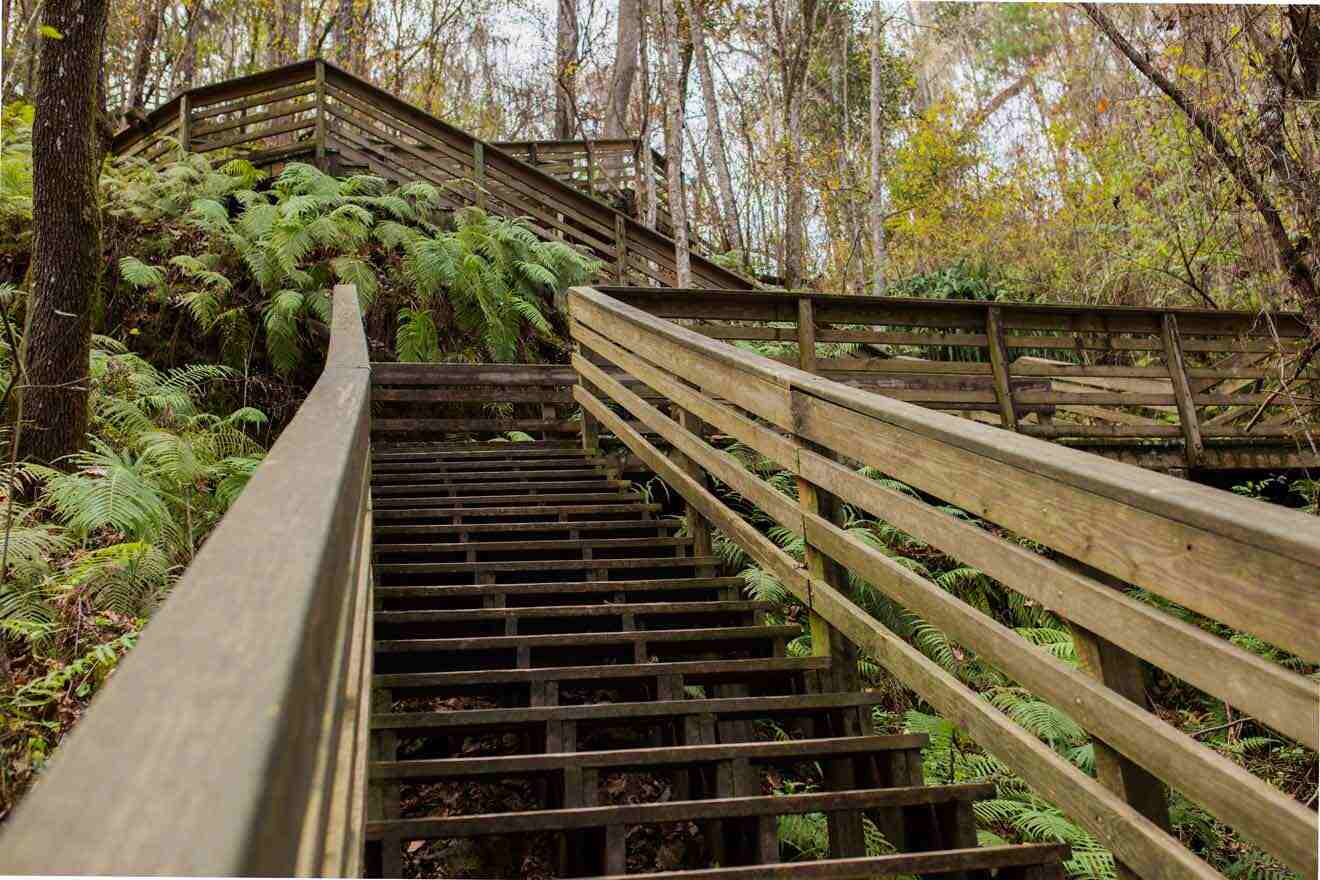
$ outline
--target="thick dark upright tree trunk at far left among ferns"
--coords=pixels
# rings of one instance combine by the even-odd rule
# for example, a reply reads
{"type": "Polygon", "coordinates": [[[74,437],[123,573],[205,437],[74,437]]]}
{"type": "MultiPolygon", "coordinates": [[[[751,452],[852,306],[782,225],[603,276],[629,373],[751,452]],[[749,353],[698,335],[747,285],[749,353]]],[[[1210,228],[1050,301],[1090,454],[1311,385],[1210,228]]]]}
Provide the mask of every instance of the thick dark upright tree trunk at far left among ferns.
{"type": "Polygon", "coordinates": [[[49,3],[32,129],[32,293],[22,340],[18,455],[50,463],[87,434],[91,313],[100,288],[104,141],[98,77],[110,0],[49,3]]]}

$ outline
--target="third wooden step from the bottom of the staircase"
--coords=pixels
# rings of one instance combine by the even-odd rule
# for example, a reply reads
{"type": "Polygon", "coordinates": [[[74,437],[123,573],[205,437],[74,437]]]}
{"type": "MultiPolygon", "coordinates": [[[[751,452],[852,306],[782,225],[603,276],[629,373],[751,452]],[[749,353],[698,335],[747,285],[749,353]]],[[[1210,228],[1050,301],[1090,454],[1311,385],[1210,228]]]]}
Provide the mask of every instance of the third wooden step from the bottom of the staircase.
{"type": "Polygon", "coordinates": [[[478,778],[482,776],[527,776],[554,773],[569,768],[660,768],[698,767],[731,760],[754,764],[799,761],[822,757],[871,755],[887,751],[920,751],[929,741],[924,734],[887,736],[833,736],[824,739],[779,740],[770,743],[718,743],[714,745],[673,745],[598,752],[556,752],[500,757],[442,757],[416,761],[376,761],[371,776],[388,780],[478,778]]]}

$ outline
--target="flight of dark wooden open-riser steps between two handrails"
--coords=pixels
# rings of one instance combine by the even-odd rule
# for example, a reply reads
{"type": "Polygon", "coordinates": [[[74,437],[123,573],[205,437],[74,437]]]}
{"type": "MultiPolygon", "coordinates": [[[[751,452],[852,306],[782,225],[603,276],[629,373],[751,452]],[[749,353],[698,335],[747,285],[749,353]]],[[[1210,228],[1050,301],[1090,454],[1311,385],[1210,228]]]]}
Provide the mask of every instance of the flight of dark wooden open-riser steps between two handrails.
{"type": "Polygon", "coordinates": [[[994,786],[925,785],[925,738],[873,735],[880,698],[791,656],[800,625],[768,623],[614,459],[376,443],[371,484],[368,873],[416,875],[416,842],[499,838],[512,876],[536,858],[624,875],[655,867],[648,830],[681,823],[677,864],[651,876],[1061,876],[1067,847],[978,848],[972,805],[994,786]],[[510,785],[517,809],[487,811],[510,785]],[[807,813],[828,817],[830,858],[780,864],[779,817],[807,813]],[[869,856],[875,833],[896,851],[869,856]]]}

